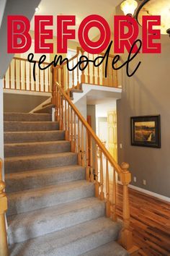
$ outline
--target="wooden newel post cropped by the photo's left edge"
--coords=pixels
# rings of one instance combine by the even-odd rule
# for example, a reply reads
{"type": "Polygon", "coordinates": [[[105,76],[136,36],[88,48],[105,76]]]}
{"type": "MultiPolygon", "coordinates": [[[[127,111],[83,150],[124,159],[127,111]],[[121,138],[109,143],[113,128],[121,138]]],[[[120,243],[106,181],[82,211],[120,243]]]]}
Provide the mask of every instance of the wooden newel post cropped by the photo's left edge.
{"type": "Polygon", "coordinates": [[[5,213],[7,210],[7,198],[4,192],[5,184],[2,181],[2,161],[0,159],[0,256],[7,256],[8,244],[6,234],[5,213]]]}

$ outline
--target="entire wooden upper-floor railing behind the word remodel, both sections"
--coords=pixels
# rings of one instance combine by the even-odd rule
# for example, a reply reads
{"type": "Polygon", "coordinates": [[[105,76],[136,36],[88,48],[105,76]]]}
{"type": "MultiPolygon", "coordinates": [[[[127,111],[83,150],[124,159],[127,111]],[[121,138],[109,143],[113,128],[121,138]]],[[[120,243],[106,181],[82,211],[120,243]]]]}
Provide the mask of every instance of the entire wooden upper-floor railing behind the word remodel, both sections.
{"type": "MultiPolygon", "coordinates": [[[[79,69],[79,66],[77,66],[72,71],[69,71],[66,67],[66,61],[53,69],[50,69],[49,67],[48,69],[44,70],[40,70],[36,64],[36,81],[34,81],[32,75],[34,64],[27,61],[27,59],[14,57],[11,64],[9,65],[9,69],[4,76],[4,89],[51,93],[54,81],[58,82],[65,91],[71,89],[79,89],[82,83],[117,88],[117,71],[112,69],[112,59],[114,58],[113,55],[108,55],[107,77],[105,77],[106,59],[101,61],[102,58],[100,58],[104,58],[104,53],[88,54],[80,47],[76,49],[75,56],[73,56],[71,59],[68,59],[68,65],[70,69],[76,66],[81,56],[84,56],[82,57],[82,60],[89,59],[94,61],[97,59],[95,61],[96,66],[100,62],[102,63],[97,67],[94,67],[94,64],[89,62],[86,69],[82,71],[79,69]],[[51,72],[51,70],[53,70],[53,72],[51,72]]],[[[43,62],[43,64],[41,64],[43,68],[48,65],[48,62],[43,62]]],[[[84,67],[84,63],[81,64],[81,67],[84,67]]]]}

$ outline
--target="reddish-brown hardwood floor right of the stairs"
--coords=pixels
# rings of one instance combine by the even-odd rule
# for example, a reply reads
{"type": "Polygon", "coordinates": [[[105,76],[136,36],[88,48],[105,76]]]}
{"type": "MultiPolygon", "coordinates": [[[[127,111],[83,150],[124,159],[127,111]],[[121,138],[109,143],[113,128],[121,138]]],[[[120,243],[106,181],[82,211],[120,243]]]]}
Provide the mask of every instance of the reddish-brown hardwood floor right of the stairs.
{"type": "MultiPolygon", "coordinates": [[[[130,192],[130,226],[138,255],[170,255],[170,203],[130,192]]],[[[122,218],[122,186],[117,184],[117,216],[122,218]]]]}

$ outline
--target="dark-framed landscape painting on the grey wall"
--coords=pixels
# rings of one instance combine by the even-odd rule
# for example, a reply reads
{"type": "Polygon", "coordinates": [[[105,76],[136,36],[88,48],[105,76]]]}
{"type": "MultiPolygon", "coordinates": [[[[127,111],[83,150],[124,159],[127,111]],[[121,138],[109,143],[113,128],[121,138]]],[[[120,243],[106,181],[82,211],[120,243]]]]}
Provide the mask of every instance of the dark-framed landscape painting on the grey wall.
{"type": "Polygon", "coordinates": [[[161,148],[161,116],[133,116],[131,145],[161,148]]]}

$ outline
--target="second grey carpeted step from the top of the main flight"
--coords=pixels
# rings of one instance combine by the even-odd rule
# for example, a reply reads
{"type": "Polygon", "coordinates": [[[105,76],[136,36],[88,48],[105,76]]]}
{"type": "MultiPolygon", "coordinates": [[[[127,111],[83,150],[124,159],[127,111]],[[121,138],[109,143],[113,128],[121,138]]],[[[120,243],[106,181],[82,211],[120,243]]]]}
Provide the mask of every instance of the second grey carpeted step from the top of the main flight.
{"type": "Polygon", "coordinates": [[[4,132],[49,131],[58,128],[58,121],[4,121],[4,132]]]}

